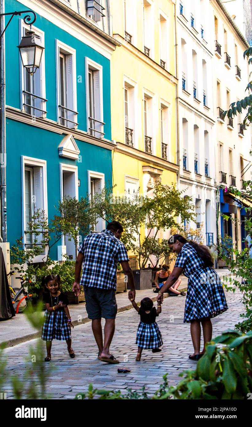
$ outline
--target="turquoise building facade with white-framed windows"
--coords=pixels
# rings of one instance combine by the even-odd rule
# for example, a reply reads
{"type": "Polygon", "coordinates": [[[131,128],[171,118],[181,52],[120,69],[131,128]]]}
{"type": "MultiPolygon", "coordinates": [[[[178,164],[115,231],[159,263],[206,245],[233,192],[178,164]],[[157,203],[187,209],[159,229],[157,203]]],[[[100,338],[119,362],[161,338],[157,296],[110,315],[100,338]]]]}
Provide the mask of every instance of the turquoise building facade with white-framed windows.
{"type": "MultiPolygon", "coordinates": [[[[45,47],[30,76],[17,49],[29,26],[24,15],[12,19],[5,37],[7,239],[12,246],[23,236],[26,248],[32,237],[24,231],[37,209],[53,218],[63,196],[92,197],[112,182],[114,148],[110,56],[118,43],[92,28],[91,19],[85,23],[53,2],[40,3],[5,4],[6,13],[34,10],[32,31],[45,47]]],[[[99,220],[96,230],[104,226],[99,220]]],[[[50,257],[61,260],[65,253],[75,258],[73,242],[63,236],[50,257]]]]}

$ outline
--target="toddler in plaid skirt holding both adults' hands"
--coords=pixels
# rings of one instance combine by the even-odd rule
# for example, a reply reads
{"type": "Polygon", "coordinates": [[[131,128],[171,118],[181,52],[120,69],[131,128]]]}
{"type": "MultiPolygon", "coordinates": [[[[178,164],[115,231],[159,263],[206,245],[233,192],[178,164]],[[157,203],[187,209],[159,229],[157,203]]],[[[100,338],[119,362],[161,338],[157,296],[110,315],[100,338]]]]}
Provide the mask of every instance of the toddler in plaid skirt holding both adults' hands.
{"type": "Polygon", "coordinates": [[[162,335],[156,323],[156,317],[161,313],[161,305],[153,307],[151,298],[143,298],[140,307],[135,299],[130,299],[134,309],[140,315],[140,323],[136,333],[136,344],[138,345],[136,360],[141,360],[143,348],[152,349],[153,353],[161,351],[163,344],[162,335]]]}

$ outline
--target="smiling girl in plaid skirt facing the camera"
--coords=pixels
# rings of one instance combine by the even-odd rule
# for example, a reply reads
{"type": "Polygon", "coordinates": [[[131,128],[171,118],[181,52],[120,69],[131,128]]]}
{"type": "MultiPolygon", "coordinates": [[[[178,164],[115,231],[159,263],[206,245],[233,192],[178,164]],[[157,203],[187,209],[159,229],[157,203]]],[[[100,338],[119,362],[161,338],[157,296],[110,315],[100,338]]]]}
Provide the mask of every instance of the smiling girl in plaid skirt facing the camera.
{"type": "Polygon", "coordinates": [[[74,351],[71,347],[71,327],[72,320],[67,305],[69,304],[67,295],[61,292],[61,279],[59,275],[50,274],[42,278],[44,285],[43,301],[46,312],[42,328],[42,339],[46,341],[47,357],[45,362],[51,360],[52,340],[58,339],[67,342],[67,350],[70,357],[74,357],[74,351]]]}

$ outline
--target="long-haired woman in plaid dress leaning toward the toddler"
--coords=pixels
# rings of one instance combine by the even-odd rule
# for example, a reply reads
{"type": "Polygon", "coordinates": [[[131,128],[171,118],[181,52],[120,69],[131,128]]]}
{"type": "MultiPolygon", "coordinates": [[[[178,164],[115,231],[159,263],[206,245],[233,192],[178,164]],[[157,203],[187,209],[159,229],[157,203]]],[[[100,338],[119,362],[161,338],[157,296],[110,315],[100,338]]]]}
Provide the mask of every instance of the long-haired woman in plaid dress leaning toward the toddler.
{"type": "Polygon", "coordinates": [[[177,253],[177,260],[171,275],[159,291],[157,301],[162,302],[162,294],[167,292],[182,272],[188,277],[184,322],[191,323],[194,354],[190,354],[189,359],[199,360],[206,351],[206,343],[212,338],[211,318],[228,309],[223,286],[212,268],[213,260],[206,246],[188,242],[180,234],[171,236],[168,244],[172,252],[177,253]],[[200,323],[204,337],[203,351],[200,351],[200,323]]]}

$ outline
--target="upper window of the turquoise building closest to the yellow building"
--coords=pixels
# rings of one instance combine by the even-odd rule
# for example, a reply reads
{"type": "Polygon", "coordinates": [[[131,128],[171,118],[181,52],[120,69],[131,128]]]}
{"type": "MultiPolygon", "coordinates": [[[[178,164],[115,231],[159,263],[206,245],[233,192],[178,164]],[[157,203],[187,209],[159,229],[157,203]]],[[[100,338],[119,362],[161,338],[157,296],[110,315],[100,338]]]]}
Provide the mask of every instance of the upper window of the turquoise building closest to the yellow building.
{"type": "Polygon", "coordinates": [[[104,136],[102,66],[86,58],[87,129],[90,135],[104,136]]]}

